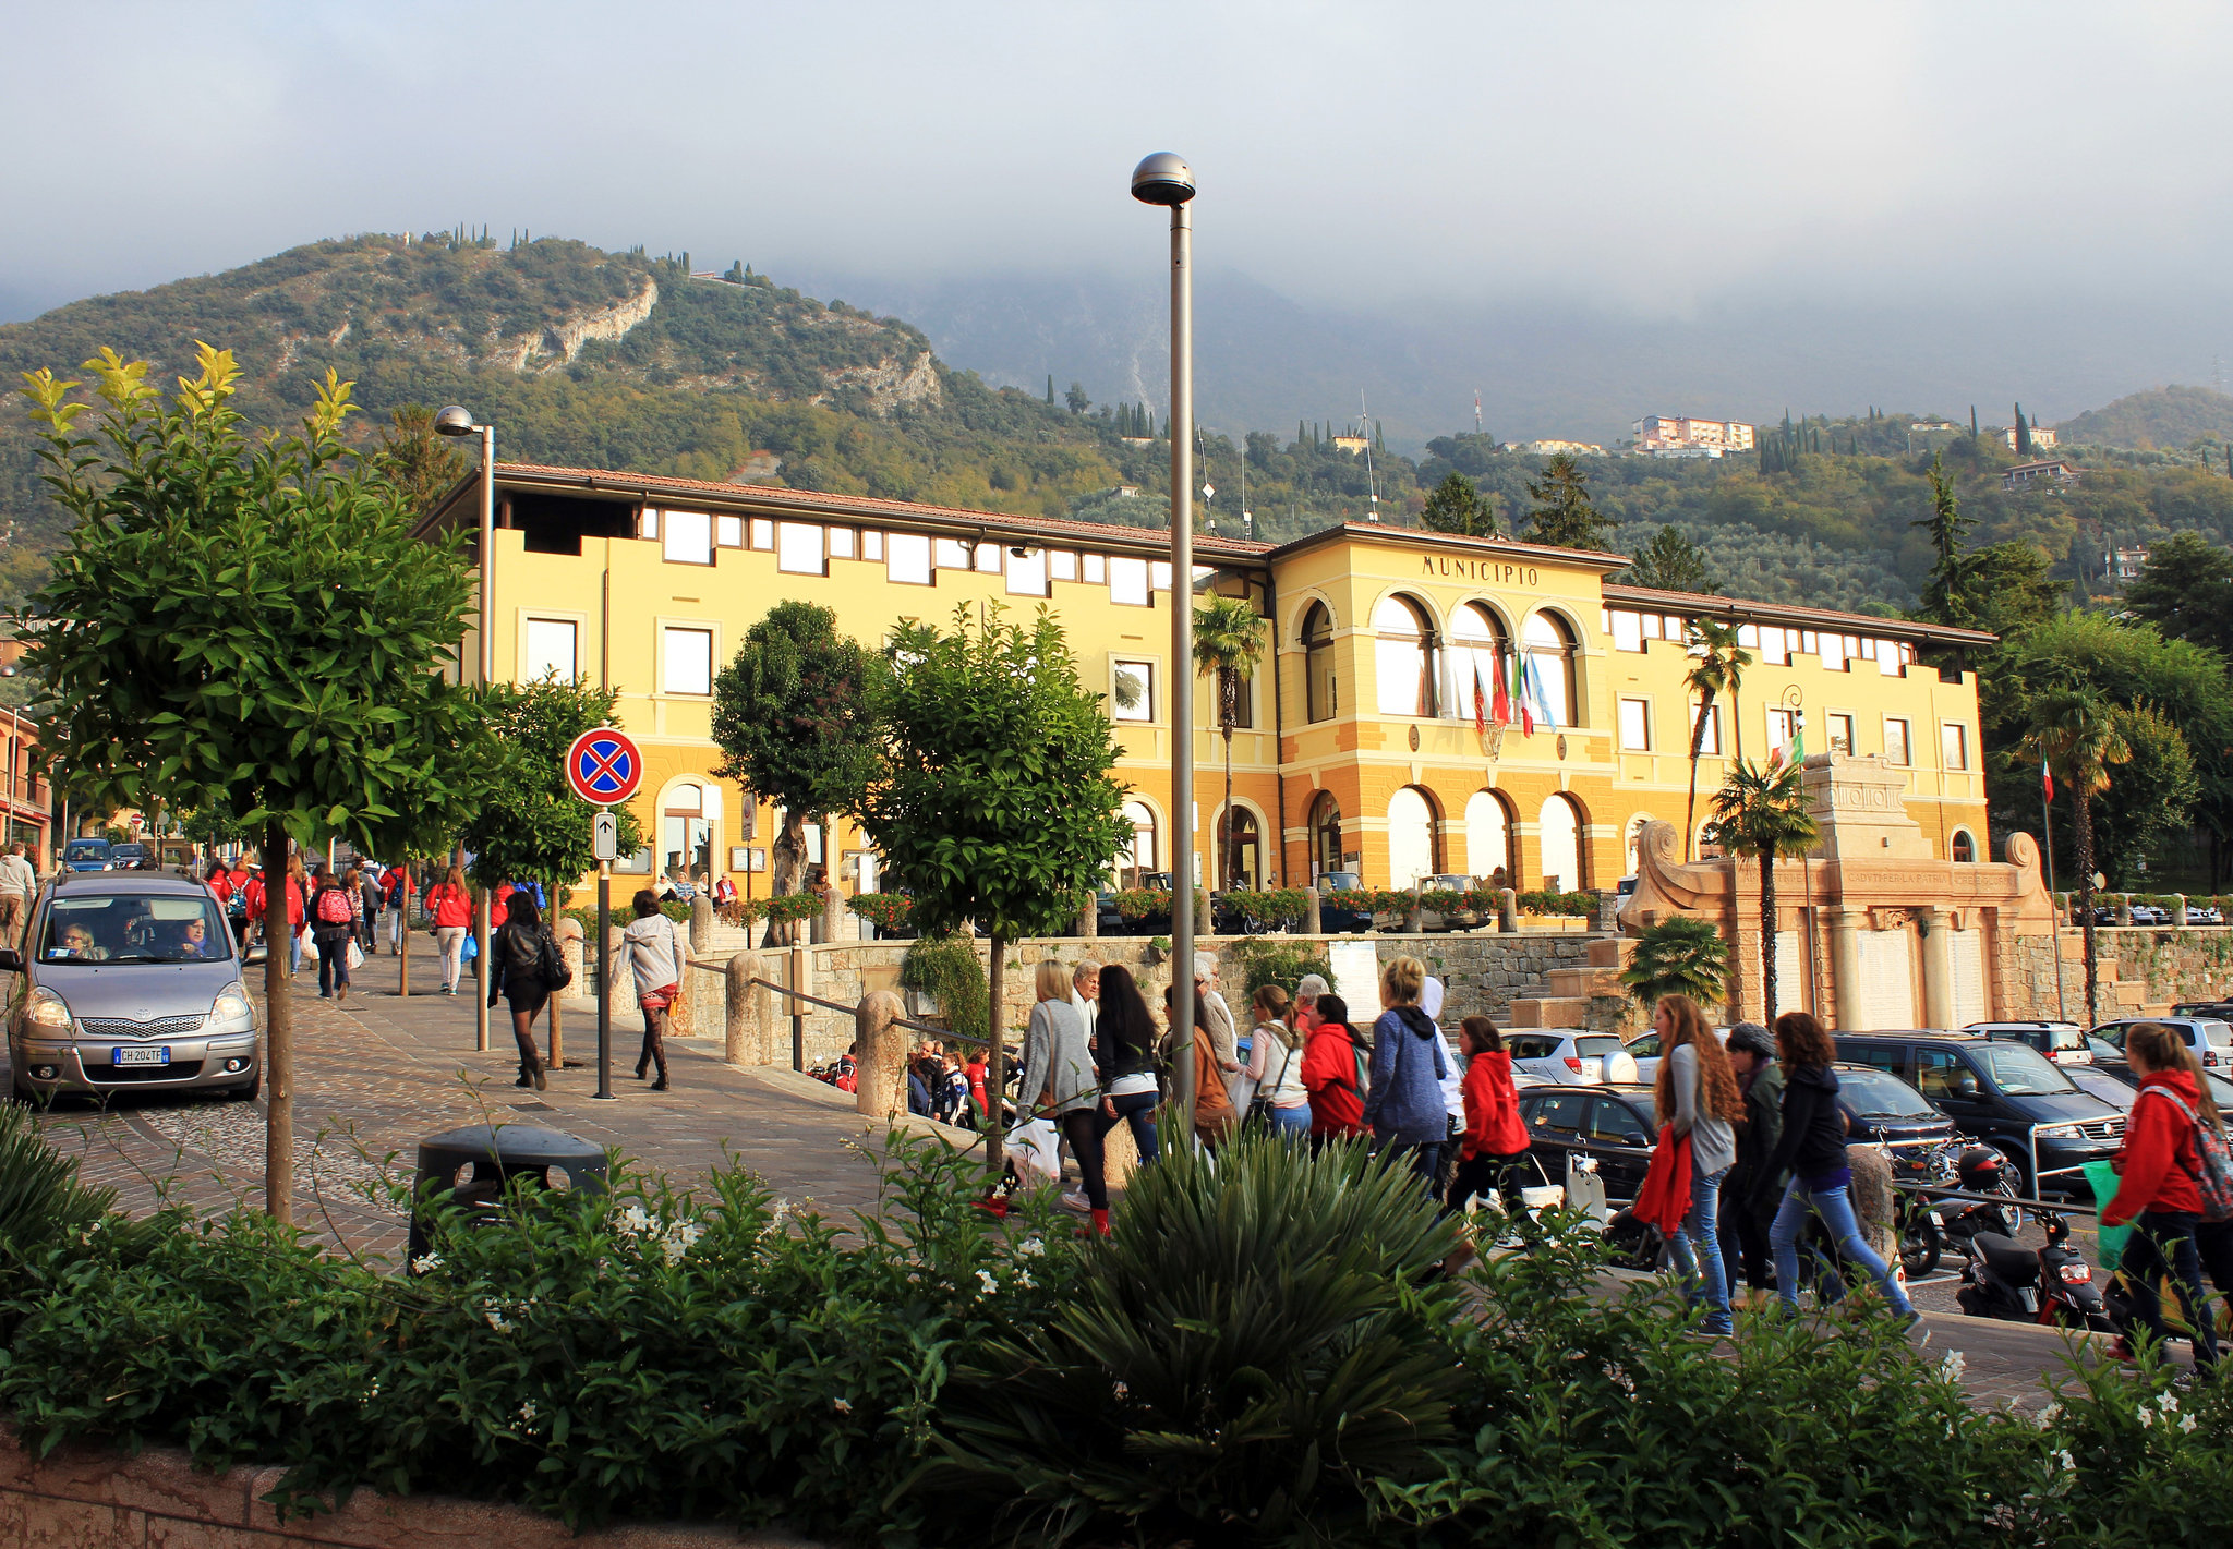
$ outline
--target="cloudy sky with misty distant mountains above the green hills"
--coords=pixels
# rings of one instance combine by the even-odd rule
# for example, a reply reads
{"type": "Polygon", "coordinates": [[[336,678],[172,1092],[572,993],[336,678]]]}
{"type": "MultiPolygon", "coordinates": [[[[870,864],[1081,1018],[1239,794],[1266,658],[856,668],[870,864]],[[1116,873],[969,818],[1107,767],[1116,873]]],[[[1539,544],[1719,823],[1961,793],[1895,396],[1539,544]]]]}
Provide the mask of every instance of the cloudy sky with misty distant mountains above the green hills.
{"type": "Polygon", "coordinates": [[[1869,362],[1831,411],[1903,402],[1887,337],[1978,355],[1916,391],[2007,375],[2054,413],[2233,357],[2233,7],[0,0],[0,319],[458,221],[1132,315],[1166,237],[1128,174],[1177,150],[1204,275],[1389,339],[1576,319],[1744,379],[1728,337],[1766,328],[1809,391],[1869,362]],[[2070,384],[2001,359],[2052,366],[2039,330],[2070,384]]]}

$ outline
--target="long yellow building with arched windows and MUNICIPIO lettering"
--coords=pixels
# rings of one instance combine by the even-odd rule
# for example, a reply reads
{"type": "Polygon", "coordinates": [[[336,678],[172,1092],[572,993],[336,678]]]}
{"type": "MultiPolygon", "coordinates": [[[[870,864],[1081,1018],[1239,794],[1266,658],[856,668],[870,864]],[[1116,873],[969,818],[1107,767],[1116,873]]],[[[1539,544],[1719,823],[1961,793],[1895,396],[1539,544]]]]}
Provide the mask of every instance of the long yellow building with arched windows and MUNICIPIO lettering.
{"type": "MultiPolygon", "coordinates": [[[[480,475],[422,536],[480,520],[480,475]]],[[[1170,857],[1170,694],[1195,696],[1195,855],[1224,801],[1224,739],[1208,681],[1170,683],[1168,533],[643,473],[498,464],[487,607],[500,679],[547,672],[619,694],[645,754],[636,815],[652,837],[627,866],[677,877],[766,866],[770,810],[712,777],[712,683],[744,632],[784,598],[822,603],[882,643],[900,618],[947,623],[958,603],[1052,607],[1081,676],[1110,696],[1130,786],[1130,882],[1170,857]]],[[[1818,607],[1652,591],[1606,580],[1619,554],[1329,527],[1286,545],[1201,536],[1195,587],[1268,620],[1233,737],[1235,848],[1255,886],[1326,870],[1367,886],[1427,875],[1505,886],[1612,888],[1650,819],[1684,824],[1695,699],[1684,620],[1737,620],[1753,656],[1717,701],[1699,761],[1699,817],[1731,757],[1762,759],[1804,728],[1809,752],[1880,754],[1932,853],[1983,862],[1985,777],[1976,676],[1918,647],[1987,634],[1818,607]],[[1476,685],[1530,685],[1532,730],[1476,685]]],[[[478,641],[462,661],[478,658],[478,641]]],[[[842,891],[875,859],[842,819],[808,833],[842,891]]],[[[1219,875],[1201,862],[1201,875],[1219,875]]],[[[759,882],[766,891],[766,882],[759,882]]]]}

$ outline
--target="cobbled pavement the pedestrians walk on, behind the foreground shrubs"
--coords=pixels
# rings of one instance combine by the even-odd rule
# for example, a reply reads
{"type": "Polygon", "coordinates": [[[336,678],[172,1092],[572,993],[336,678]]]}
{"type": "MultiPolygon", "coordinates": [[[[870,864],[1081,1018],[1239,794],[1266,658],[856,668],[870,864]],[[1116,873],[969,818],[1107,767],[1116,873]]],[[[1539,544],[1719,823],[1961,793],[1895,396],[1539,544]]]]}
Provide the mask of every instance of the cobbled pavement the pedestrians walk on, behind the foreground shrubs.
{"type": "MultiPolygon", "coordinates": [[[[427,984],[431,955],[413,955],[427,984]]],[[[851,1098],[788,1069],[735,1069],[712,1038],[670,1040],[672,1091],[632,1078],[641,1029],[614,1027],[612,1100],[596,1094],[594,1011],[565,1013],[567,1067],[547,1091],[518,1089],[509,1018],[491,1013],[491,1047],[473,1049],[467,995],[397,995],[397,962],[357,971],[344,1004],[317,998],[315,975],[295,980],[297,1100],[295,1219],[326,1243],[393,1266],[406,1219],[389,1185],[409,1183],[422,1136],[471,1123],[534,1123],[619,1147],[679,1185],[732,1158],[784,1199],[831,1216],[875,1210],[878,1134],[851,1098]]],[[[125,1094],[107,1109],[67,1105],[42,1118],[58,1149],[83,1161],[87,1181],[114,1185],[123,1205],[181,1201],[219,1212],[263,1199],[263,1103],[179,1100],[125,1094]]],[[[947,1132],[956,1134],[956,1132],[947,1132]]],[[[2074,1353],[2099,1359],[2101,1341],[2023,1324],[1961,1317],[1952,1281],[1920,1283],[1934,1353],[1961,1353],[1963,1384],[1981,1404],[2036,1408],[2074,1353]]],[[[2184,1355],[2184,1348],[2182,1348],[2184,1355]]]]}

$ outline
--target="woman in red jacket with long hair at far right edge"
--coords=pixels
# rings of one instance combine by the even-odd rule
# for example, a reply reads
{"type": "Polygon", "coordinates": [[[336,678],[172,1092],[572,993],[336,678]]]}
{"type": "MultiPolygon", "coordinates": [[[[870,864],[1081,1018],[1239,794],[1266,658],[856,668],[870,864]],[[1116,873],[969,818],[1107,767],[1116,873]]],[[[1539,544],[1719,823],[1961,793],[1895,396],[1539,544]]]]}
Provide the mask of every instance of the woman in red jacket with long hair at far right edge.
{"type": "Polygon", "coordinates": [[[2101,1225],[2135,1223],[2126,1239],[2121,1274],[2133,1288],[2133,1308],[2157,1344],[2170,1335],[2164,1328],[2164,1301],[2157,1286],[2168,1274],[2179,1292],[2188,1328],[2195,1330],[2195,1366],[2217,1364],[2217,1337],[2211,1328],[2211,1303],[2202,1290],[2202,1261],[2195,1254],[2195,1225],[2202,1221],[2202,1152],[2195,1145],[2195,1120],[2217,1127],[2217,1105],[2202,1089],[2195,1056],[2186,1042],[2162,1022],[2139,1022],[2124,1038],[2124,1058],[2139,1076],[2139,1096],[2117,1152],[2117,1199],[2101,1210],[2101,1225]]]}

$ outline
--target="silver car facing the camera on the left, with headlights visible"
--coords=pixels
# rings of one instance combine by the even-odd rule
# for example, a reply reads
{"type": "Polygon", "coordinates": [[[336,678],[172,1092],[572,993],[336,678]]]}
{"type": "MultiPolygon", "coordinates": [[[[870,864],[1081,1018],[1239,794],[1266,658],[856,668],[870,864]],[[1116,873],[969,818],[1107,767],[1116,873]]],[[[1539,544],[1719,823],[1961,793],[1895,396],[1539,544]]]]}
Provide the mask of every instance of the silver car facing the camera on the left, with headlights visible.
{"type": "MultiPolygon", "coordinates": [[[[257,951],[261,955],[261,951],[257,951]]],[[[40,893],[7,1002],[18,1100],[58,1094],[257,1096],[257,1009],[205,886],[152,870],[63,875],[40,893]]]]}

